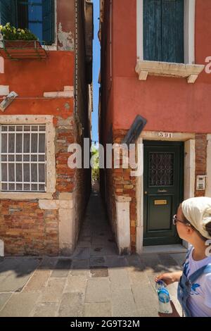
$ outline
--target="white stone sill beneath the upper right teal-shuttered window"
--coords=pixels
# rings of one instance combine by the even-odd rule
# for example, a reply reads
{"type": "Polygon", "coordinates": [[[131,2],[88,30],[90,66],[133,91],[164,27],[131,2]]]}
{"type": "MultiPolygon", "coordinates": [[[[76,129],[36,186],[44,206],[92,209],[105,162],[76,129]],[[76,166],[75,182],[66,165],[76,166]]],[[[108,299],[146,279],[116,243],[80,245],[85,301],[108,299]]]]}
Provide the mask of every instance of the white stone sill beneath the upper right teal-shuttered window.
{"type": "Polygon", "coordinates": [[[137,61],[136,73],[139,80],[147,80],[148,75],[186,78],[188,84],[194,84],[205,65],[169,63],[158,61],[137,61]]]}

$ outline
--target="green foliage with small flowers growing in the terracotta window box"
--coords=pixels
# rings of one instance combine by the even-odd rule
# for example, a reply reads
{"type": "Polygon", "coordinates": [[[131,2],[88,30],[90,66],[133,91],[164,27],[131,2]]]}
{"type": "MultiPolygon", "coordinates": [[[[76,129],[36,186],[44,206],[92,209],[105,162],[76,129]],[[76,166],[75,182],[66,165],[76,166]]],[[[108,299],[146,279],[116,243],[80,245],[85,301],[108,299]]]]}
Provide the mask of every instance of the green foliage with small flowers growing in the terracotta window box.
{"type": "Polygon", "coordinates": [[[1,35],[5,40],[37,40],[37,37],[28,29],[17,29],[11,23],[0,25],[1,35]]]}

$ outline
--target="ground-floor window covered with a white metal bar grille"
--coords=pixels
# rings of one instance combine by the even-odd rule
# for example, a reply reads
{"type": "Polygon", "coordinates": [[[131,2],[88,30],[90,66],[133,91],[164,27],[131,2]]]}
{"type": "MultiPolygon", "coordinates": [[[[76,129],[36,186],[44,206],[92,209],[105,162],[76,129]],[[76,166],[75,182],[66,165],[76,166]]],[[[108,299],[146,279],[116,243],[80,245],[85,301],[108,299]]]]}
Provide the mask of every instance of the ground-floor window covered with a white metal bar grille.
{"type": "Polygon", "coordinates": [[[1,191],[46,192],[46,125],[1,125],[1,191]]]}

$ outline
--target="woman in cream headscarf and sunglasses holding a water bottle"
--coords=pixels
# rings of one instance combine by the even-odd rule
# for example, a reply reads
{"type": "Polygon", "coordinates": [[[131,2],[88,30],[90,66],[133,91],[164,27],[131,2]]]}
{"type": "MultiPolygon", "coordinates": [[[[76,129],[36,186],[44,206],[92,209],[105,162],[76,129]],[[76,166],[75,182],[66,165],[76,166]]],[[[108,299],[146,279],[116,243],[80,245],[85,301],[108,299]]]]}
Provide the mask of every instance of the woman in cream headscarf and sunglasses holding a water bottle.
{"type": "MultiPolygon", "coordinates": [[[[184,270],[155,281],[179,282],[178,299],[186,317],[211,317],[211,198],[184,201],[173,219],[181,239],[190,244],[184,270]]],[[[173,308],[173,316],[179,314],[173,308]]]]}

